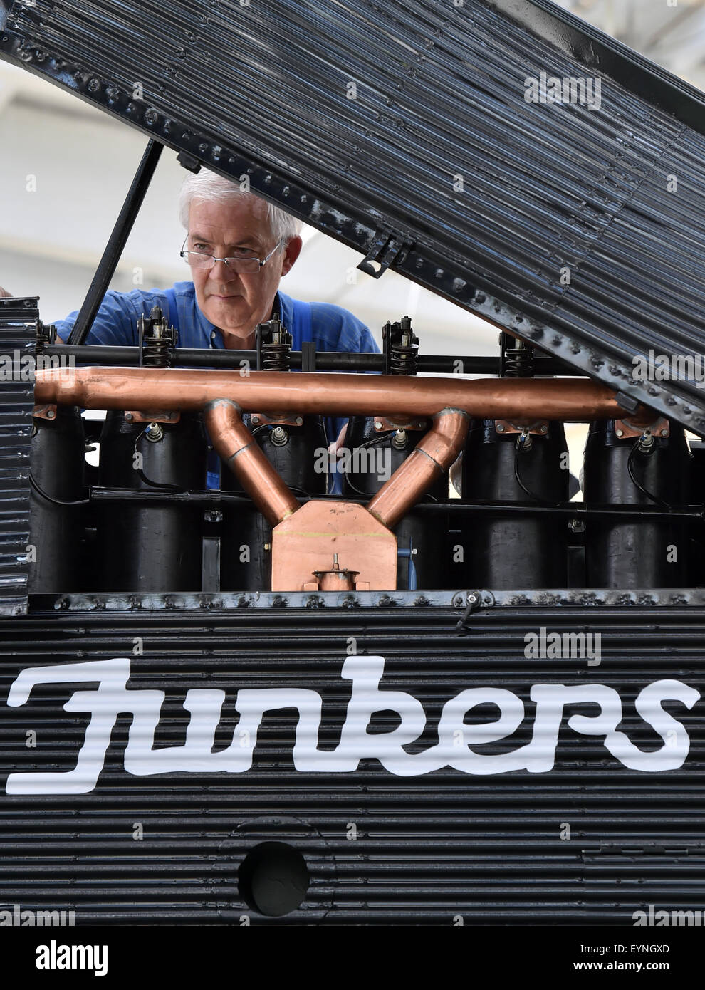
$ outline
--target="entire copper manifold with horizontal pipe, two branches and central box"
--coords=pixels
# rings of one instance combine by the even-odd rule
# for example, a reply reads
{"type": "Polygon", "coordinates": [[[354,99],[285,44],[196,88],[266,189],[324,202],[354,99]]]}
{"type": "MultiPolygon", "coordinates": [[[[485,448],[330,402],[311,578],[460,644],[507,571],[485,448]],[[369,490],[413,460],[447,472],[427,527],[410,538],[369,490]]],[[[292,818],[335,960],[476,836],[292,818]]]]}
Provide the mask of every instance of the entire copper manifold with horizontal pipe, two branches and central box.
{"type": "MultiPolygon", "coordinates": [[[[531,423],[586,422],[629,412],[605,385],[571,379],[416,378],[353,373],[240,372],[185,368],[38,370],[35,401],[87,409],[161,414],[203,411],[213,445],[274,527],[272,589],[300,590],[312,571],[328,587],[330,560],[358,572],[358,586],[393,590],[396,540],[391,529],[460,452],[470,417],[531,423]],[[366,509],[346,502],[309,502],[303,509],[252,438],[243,412],[304,415],[433,417],[434,426],[372,497],[366,509]],[[293,518],[292,518],[293,517],[293,518]]],[[[634,421],[654,419],[640,407],[634,421]]],[[[353,578],[348,579],[348,584],[353,578]]],[[[340,579],[333,584],[340,584],[340,579]]],[[[349,589],[350,590],[350,589],[349,589]]]]}

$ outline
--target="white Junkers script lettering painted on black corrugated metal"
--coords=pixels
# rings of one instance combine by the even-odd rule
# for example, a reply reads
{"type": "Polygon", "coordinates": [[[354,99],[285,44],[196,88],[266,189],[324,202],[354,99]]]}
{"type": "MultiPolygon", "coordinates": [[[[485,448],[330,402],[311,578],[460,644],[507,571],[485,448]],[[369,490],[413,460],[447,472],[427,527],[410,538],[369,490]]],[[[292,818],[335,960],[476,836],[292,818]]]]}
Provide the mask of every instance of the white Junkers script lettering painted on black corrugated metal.
{"type": "Polygon", "coordinates": [[[245,773],[252,767],[257,730],[265,712],[296,709],[298,721],[293,762],[302,773],[353,773],[360,759],[375,758],[392,774],[414,777],[450,766],[461,773],[489,775],[513,770],[547,773],[554,768],[558,731],[565,706],[589,702],[595,715],[571,715],[567,726],[583,736],[603,737],[605,748],[623,766],[649,773],[676,770],[683,765],[690,740],[682,723],[663,711],[663,702],[680,702],[691,709],[700,693],[681,681],[656,680],[642,688],[635,706],[645,723],[652,726],[663,745],[645,752],[620,732],[622,700],[604,684],[535,684],[531,700],[536,705],[532,738],[509,752],[476,752],[472,746],[507,739],[525,722],[524,702],[512,691],[499,687],[474,687],[460,691],[446,702],[438,725],[439,742],[418,753],[404,749],[416,742],[426,727],[421,702],[406,691],[380,689],[383,656],[349,656],[342,676],[353,682],[340,744],[333,750],[318,748],[323,700],[309,688],[241,688],[235,702],[240,721],[232,743],[213,752],[215,733],[221,720],[226,692],[192,688],[183,707],[190,713],[183,745],[154,748],[164,692],[127,689],[130,659],[64,663],[22,670],[10,688],[8,705],[24,705],[36,684],[85,682],[97,687],[75,691],[63,706],[67,712],[89,713],[90,721],[72,770],[63,772],[11,773],[8,794],[87,794],[93,790],[105,761],[110,738],[121,713],[133,716],[124,766],[128,773],[149,776],[157,773],[245,773]],[[468,725],[466,713],[478,705],[496,706],[499,717],[468,725]],[[392,711],[399,725],[390,732],[370,733],[375,712],[392,711]]]}

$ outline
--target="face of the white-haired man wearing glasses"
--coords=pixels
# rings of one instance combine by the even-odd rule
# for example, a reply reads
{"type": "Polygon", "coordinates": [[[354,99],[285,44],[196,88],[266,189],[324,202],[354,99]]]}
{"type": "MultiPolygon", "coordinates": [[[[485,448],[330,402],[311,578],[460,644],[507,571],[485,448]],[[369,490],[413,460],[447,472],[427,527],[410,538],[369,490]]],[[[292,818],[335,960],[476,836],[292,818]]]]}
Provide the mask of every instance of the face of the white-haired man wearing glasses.
{"type": "MultiPolygon", "coordinates": [[[[275,245],[262,200],[247,197],[232,203],[191,203],[188,250],[262,260],[275,245]]],[[[206,319],[223,331],[226,347],[252,344],[254,328],[269,319],[279,280],[300,250],[301,239],[292,238],[252,275],[238,274],[224,261],[216,261],[212,267],[190,266],[198,306],[206,319]]]]}

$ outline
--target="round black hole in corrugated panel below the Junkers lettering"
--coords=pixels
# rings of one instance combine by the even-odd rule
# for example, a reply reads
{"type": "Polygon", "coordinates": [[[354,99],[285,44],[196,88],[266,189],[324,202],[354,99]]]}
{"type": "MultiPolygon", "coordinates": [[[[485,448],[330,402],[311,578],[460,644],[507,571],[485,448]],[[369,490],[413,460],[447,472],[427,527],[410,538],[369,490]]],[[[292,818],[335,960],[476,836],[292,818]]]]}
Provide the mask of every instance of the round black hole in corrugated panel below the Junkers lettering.
{"type": "Polygon", "coordinates": [[[306,860],[286,842],[255,845],[238,870],[240,896],[252,911],[270,918],[295,911],[310,882],[306,860]]]}

